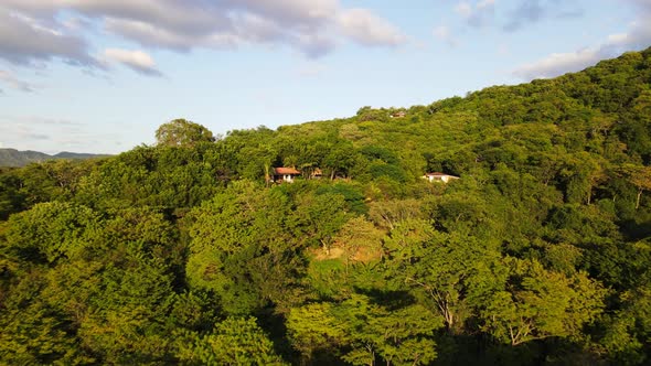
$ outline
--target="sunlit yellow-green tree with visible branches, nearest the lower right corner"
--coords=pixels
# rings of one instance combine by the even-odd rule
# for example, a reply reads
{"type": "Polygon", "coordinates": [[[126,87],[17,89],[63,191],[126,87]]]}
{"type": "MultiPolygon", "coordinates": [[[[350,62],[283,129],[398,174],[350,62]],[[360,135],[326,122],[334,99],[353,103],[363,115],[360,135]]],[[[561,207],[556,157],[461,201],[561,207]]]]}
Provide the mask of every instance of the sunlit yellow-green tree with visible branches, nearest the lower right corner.
{"type": "Polygon", "coordinates": [[[585,273],[547,271],[536,261],[509,259],[504,290],[487,298],[482,317],[495,337],[519,345],[549,336],[577,337],[596,320],[606,291],[585,273]]]}

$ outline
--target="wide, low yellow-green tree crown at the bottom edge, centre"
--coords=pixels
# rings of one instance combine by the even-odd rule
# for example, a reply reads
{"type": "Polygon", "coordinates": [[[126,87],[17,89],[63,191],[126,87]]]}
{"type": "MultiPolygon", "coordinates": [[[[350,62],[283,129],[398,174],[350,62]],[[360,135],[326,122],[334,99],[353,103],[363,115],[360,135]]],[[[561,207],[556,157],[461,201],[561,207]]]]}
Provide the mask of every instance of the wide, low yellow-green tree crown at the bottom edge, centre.
{"type": "Polygon", "coordinates": [[[294,346],[308,357],[348,347],[341,358],[353,365],[384,359],[388,365],[423,365],[436,357],[434,330],[440,317],[419,305],[388,311],[361,294],[341,303],[294,309],[287,320],[294,346]]]}

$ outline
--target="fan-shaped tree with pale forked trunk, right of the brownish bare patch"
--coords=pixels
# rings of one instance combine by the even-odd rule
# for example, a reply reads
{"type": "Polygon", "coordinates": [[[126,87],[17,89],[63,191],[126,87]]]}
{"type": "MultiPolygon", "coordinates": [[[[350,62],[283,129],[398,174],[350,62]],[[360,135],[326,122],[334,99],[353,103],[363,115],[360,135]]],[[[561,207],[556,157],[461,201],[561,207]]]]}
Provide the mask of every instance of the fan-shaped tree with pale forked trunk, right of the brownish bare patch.
{"type": "Polygon", "coordinates": [[[452,333],[499,288],[500,254],[473,237],[435,234],[423,222],[392,230],[388,274],[399,279],[445,320],[452,333]]]}

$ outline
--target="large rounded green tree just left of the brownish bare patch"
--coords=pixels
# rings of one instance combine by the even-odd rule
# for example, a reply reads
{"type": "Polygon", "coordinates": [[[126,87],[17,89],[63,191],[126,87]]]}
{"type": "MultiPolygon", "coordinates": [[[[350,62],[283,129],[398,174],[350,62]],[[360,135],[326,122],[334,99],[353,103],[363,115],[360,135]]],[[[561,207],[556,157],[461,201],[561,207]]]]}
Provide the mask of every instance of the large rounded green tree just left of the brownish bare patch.
{"type": "Polygon", "coordinates": [[[190,286],[216,291],[234,314],[292,302],[305,240],[291,206],[280,190],[241,182],[192,211],[190,286]]]}

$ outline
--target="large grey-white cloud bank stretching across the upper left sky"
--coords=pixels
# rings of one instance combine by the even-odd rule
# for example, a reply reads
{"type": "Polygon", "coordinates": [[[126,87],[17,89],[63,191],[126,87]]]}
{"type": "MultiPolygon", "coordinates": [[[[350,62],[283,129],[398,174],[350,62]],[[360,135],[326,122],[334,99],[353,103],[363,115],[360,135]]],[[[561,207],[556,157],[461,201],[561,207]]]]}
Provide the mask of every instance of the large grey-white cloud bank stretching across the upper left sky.
{"type": "Polygon", "coordinates": [[[177,52],[263,44],[319,56],[342,41],[406,42],[387,20],[339,0],[0,0],[0,60],[29,65],[61,58],[100,67],[78,35],[89,26],[79,19],[143,47],[177,52]]]}

